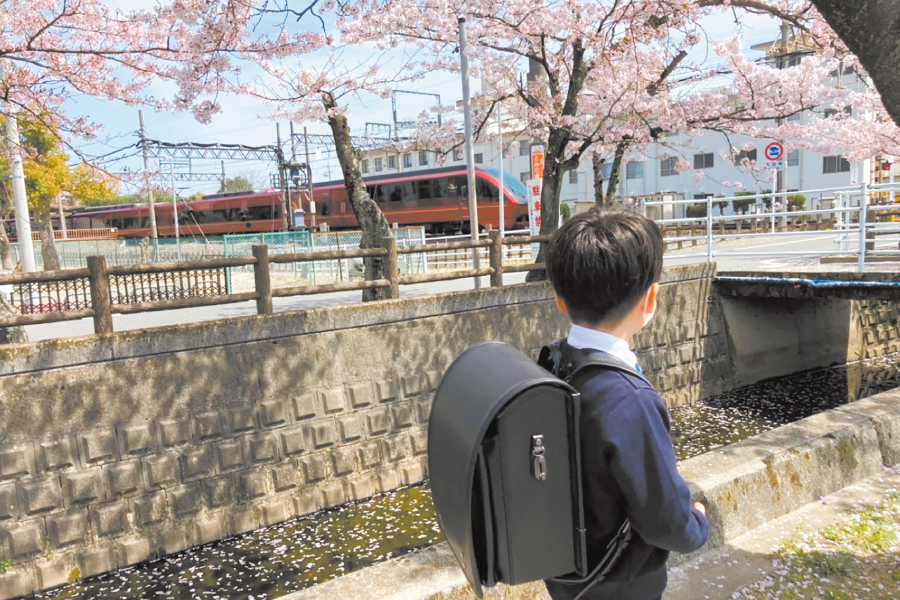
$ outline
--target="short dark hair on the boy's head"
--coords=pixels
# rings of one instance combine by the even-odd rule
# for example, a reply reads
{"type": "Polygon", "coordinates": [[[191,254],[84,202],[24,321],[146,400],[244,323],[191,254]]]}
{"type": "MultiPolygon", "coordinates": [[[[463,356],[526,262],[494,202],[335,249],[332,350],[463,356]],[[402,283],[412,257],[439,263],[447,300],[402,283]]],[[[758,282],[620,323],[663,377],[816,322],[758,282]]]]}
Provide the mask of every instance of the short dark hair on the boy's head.
{"type": "Polygon", "coordinates": [[[625,315],[659,281],[664,243],[650,219],[599,207],[560,227],[547,246],[547,274],[569,317],[596,325],[625,315]]]}

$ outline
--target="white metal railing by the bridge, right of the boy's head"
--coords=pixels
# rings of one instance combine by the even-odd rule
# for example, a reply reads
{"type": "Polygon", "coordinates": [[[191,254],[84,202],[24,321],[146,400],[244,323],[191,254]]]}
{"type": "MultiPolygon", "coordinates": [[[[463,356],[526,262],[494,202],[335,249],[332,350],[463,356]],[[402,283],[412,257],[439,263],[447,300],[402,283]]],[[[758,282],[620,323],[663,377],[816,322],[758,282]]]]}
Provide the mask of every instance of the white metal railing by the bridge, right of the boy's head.
{"type": "MultiPolygon", "coordinates": [[[[706,258],[708,262],[712,262],[716,257],[830,257],[855,255],[857,257],[859,272],[864,273],[866,268],[867,256],[871,257],[875,255],[897,255],[898,257],[900,257],[900,250],[876,251],[874,247],[874,239],[876,235],[900,233],[900,228],[898,228],[897,225],[892,225],[890,223],[877,223],[875,222],[877,219],[872,218],[879,213],[900,216],[900,212],[898,212],[900,206],[895,204],[879,205],[869,202],[869,197],[873,194],[889,192],[889,196],[893,197],[894,193],[898,191],[900,191],[900,183],[864,183],[857,186],[795,190],[789,192],[767,192],[747,196],[731,196],[727,198],[715,198],[713,196],[707,196],[705,200],[693,199],[643,202],[640,204],[640,207],[641,210],[646,214],[645,209],[646,207],[650,206],[674,207],[679,205],[706,205],[705,216],[656,220],[656,223],[664,229],[671,230],[672,228],[677,228],[678,230],[688,230],[690,232],[690,234],[687,236],[679,236],[676,234],[675,237],[666,237],[667,244],[679,243],[679,246],[680,243],[684,242],[691,242],[692,245],[697,242],[703,242],[706,244],[705,252],[695,254],[680,254],[678,255],[678,258],[706,258]],[[819,208],[816,210],[780,210],[776,212],[774,209],[772,209],[769,212],[763,213],[718,216],[713,215],[714,207],[717,205],[717,203],[720,202],[730,202],[734,200],[761,201],[763,199],[769,199],[772,201],[774,206],[775,199],[780,199],[782,205],[784,207],[787,207],[788,197],[797,194],[803,194],[806,196],[809,196],[810,194],[831,194],[833,196],[828,200],[833,201],[834,206],[824,209],[819,208]],[[858,205],[852,206],[854,200],[858,202],[858,205]],[[815,218],[816,220],[813,221],[811,220],[812,218],[815,218]],[[820,222],[823,219],[828,225],[833,227],[832,231],[836,235],[835,242],[838,244],[838,248],[836,248],[835,250],[740,251],[713,249],[713,243],[717,240],[737,239],[739,237],[772,238],[788,236],[821,236],[822,232],[819,229],[818,225],[821,224],[820,222]],[[752,227],[751,232],[741,233],[740,228],[736,227],[737,231],[733,233],[725,233],[725,224],[729,222],[746,222],[748,220],[751,221],[751,224],[754,222],[757,224],[757,227],[752,227]],[[765,232],[758,231],[758,224],[760,222],[768,223],[768,227],[766,227],[765,232]],[[719,228],[720,233],[718,234],[715,232],[717,223],[722,225],[719,228]],[[812,223],[815,223],[817,225],[815,227],[815,230],[800,230],[800,227],[802,227],[803,224],[811,225],[812,223]],[[695,235],[698,224],[703,230],[702,235],[695,235]],[[854,243],[856,244],[855,248],[851,247],[854,243]]],[[[900,258],[898,258],[898,260],[900,260],[900,258]]]]}

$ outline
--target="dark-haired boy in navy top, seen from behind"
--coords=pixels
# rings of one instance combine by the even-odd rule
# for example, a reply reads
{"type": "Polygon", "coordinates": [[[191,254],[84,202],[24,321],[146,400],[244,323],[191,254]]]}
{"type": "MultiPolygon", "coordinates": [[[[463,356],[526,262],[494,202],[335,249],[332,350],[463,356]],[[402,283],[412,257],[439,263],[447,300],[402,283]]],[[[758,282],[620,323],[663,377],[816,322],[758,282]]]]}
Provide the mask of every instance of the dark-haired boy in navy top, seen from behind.
{"type": "Polygon", "coordinates": [[[653,221],[596,208],[563,224],[547,248],[556,304],[572,322],[561,363],[578,349],[593,349],[635,370],[587,367],[570,382],[582,398],[589,569],[626,518],[633,537],[608,576],[589,589],[588,583],[547,580],[554,600],[661,598],[669,552],[692,552],[709,535],[703,505],[691,506],[676,470],[666,406],[637,374],[640,365],[629,348],[656,310],[663,249],[653,221]]]}

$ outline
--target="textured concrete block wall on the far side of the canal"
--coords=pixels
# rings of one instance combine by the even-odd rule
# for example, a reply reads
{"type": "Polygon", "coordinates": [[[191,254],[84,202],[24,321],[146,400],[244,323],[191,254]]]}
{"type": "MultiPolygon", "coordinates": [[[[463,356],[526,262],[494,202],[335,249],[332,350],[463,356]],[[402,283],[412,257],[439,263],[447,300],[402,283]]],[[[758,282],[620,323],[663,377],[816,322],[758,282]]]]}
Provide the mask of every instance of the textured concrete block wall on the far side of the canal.
{"type": "MultiPolygon", "coordinates": [[[[670,404],[896,343],[894,309],[846,301],[806,351],[807,303],[779,309],[784,360],[758,364],[765,336],[713,277],[667,269],[633,341],[670,404]]],[[[453,358],[487,339],[536,355],[566,327],[526,284],[2,347],[0,599],[422,481],[453,358]]]]}

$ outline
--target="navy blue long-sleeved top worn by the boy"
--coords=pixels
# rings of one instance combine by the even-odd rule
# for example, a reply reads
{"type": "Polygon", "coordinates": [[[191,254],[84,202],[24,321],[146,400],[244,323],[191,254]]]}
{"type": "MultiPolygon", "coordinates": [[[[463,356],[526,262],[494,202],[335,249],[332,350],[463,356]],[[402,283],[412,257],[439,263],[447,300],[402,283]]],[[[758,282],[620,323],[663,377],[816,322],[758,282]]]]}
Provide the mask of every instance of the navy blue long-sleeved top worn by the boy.
{"type": "MultiPolygon", "coordinates": [[[[589,566],[603,557],[626,517],[636,534],[608,578],[587,597],[605,598],[609,588],[618,600],[656,598],[665,589],[669,552],[692,552],[709,535],[678,474],[666,406],[646,381],[621,371],[588,367],[571,383],[581,392],[589,566]]],[[[567,596],[554,594],[553,587],[558,586],[548,584],[552,596],[567,596]]]]}

